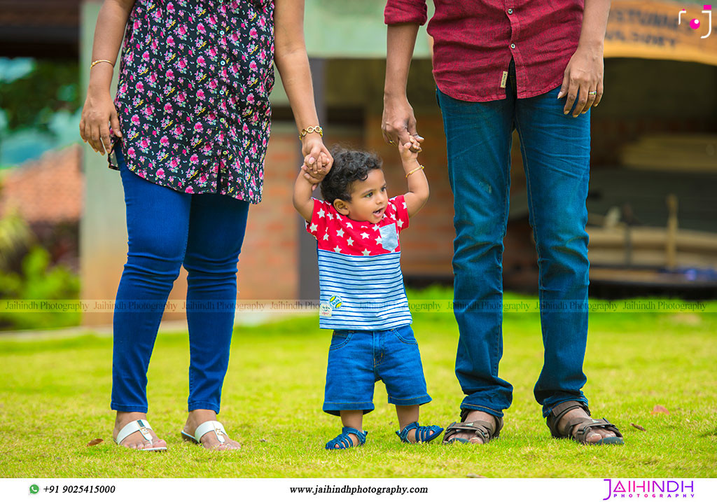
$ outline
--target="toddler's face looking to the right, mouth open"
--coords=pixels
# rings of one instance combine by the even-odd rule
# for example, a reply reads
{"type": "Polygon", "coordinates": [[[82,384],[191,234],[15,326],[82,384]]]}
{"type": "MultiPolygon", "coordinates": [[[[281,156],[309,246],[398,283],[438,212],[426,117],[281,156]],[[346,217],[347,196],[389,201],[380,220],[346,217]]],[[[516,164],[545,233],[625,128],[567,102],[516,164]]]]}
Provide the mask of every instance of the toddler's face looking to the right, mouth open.
{"type": "Polygon", "coordinates": [[[384,217],[389,196],[383,169],[371,169],[364,181],[354,181],[351,186],[351,200],[336,199],[333,207],[343,216],[356,222],[378,223],[384,217]]]}

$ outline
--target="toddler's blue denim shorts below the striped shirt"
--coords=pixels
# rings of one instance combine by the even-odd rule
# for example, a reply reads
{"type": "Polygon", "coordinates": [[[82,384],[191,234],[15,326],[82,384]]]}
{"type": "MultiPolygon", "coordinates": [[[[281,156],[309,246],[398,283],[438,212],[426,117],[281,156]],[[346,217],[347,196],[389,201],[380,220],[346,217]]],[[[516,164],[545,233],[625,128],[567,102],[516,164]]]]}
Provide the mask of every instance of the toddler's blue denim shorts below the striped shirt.
{"type": "Polygon", "coordinates": [[[323,411],[374,409],[374,384],[386,384],[389,403],[399,406],[431,401],[421,354],[411,326],[380,331],[336,330],[331,337],[323,411]]]}

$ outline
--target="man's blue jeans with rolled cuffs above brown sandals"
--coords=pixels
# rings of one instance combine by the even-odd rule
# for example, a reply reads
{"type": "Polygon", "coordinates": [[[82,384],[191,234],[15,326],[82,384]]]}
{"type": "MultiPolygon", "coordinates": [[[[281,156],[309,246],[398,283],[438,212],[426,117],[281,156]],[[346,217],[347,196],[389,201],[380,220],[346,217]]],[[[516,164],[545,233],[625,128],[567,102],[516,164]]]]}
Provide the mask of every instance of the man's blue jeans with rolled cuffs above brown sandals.
{"type": "MultiPolygon", "coordinates": [[[[511,80],[514,80],[511,75],[511,80]]],[[[462,409],[496,417],[510,407],[498,377],[503,355],[503,237],[511,184],[511,134],[518,130],[528,208],[540,268],[544,360],[534,395],[543,416],[561,402],[587,405],[581,389],[587,344],[587,198],[590,113],[564,115],[559,89],[516,99],[468,103],[437,91],[454,195],[454,313],[460,331],[455,373],[462,409]]]]}

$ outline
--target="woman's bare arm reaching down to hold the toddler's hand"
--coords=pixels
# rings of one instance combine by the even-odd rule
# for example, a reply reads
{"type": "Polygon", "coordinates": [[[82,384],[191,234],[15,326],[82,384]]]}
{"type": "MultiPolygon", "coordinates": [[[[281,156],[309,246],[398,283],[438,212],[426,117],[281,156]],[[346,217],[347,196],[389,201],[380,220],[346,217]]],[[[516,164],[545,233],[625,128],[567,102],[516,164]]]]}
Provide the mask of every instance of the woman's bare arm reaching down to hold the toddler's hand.
{"type": "MultiPolygon", "coordinates": [[[[301,131],[319,125],[304,44],[304,0],[275,0],[274,5],[274,62],[289,98],[296,127],[301,131]]],[[[319,133],[304,136],[301,151],[305,156],[304,163],[313,174],[328,171],[333,164],[331,153],[319,133]]]]}

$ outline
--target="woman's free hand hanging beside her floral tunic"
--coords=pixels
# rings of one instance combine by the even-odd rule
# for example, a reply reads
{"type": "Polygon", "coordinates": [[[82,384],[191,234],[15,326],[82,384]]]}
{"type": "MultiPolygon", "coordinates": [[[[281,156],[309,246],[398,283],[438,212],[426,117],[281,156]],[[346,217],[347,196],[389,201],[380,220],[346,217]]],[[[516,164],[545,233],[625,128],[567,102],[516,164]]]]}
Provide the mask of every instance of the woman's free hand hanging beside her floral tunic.
{"type": "Polygon", "coordinates": [[[110,123],[115,136],[121,138],[120,120],[110,93],[88,92],[85,106],[82,108],[82,118],[80,119],[82,141],[90,143],[92,149],[103,155],[105,152],[109,152],[112,147],[110,123]]]}

